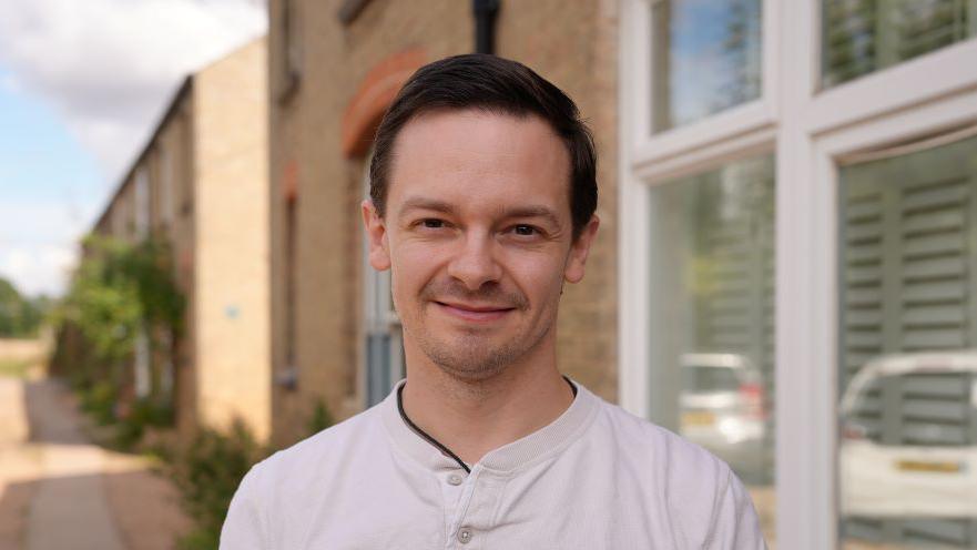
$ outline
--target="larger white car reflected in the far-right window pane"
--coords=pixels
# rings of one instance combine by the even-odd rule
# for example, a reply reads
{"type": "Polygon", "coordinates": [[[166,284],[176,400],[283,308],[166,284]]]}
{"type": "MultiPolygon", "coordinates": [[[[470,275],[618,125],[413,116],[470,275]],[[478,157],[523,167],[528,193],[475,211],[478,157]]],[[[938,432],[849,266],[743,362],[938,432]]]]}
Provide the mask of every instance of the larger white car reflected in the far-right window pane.
{"type": "Polygon", "coordinates": [[[977,518],[977,350],[869,361],[841,414],[844,516],[977,518]],[[903,400],[882,403],[878,388],[892,381],[905,384],[903,400]],[[902,422],[891,430],[898,440],[883,435],[886,421],[902,422]]]}

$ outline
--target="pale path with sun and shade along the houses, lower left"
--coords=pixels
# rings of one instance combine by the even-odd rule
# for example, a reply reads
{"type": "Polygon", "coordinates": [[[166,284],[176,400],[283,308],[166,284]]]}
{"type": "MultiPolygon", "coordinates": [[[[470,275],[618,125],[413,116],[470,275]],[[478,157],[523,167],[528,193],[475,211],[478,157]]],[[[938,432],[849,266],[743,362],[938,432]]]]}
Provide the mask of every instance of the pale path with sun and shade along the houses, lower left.
{"type": "Polygon", "coordinates": [[[167,549],[187,526],[145,460],[85,439],[59,383],[0,377],[0,550],[167,549]]]}

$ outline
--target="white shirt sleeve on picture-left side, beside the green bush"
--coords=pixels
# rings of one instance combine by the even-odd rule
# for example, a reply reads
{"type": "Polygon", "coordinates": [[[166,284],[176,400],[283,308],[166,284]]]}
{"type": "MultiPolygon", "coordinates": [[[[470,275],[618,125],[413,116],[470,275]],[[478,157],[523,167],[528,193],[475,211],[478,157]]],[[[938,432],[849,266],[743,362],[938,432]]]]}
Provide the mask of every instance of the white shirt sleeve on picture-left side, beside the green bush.
{"type": "Polygon", "coordinates": [[[251,468],[227,510],[220,550],[271,550],[261,499],[261,464],[251,468]]]}

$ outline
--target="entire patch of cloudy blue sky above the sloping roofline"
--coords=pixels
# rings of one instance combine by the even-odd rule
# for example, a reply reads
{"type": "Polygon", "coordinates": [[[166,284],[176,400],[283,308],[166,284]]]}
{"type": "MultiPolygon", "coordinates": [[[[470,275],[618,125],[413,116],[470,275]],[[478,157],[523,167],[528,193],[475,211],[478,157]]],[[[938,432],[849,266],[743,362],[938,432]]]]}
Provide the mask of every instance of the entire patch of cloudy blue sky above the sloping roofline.
{"type": "Polygon", "coordinates": [[[184,77],[265,0],[0,0],[0,276],[59,295],[79,238],[184,77]]]}

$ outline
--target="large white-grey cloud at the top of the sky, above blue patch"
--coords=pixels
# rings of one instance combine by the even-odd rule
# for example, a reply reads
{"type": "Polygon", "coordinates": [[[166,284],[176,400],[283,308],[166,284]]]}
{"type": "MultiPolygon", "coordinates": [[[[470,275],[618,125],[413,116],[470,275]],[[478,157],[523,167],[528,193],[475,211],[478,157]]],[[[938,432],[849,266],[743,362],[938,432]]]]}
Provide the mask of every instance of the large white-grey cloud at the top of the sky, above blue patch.
{"type": "Polygon", "coordinates": [[[189,72],[266,30],[263,0],[0,2],[6,86],[64,118],[113,179],[189,72]]]}

